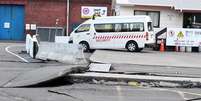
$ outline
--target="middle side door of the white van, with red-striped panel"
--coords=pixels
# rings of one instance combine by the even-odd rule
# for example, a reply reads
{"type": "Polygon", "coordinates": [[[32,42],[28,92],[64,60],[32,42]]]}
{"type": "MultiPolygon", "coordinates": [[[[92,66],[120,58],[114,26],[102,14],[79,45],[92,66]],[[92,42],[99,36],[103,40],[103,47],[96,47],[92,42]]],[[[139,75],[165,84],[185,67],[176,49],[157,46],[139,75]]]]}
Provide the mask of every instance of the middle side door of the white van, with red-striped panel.
{"type": "Polygon", "coordinates": [[[113,24],[94,24],[92,46],[97,49],[112,49],[113,24]]]}

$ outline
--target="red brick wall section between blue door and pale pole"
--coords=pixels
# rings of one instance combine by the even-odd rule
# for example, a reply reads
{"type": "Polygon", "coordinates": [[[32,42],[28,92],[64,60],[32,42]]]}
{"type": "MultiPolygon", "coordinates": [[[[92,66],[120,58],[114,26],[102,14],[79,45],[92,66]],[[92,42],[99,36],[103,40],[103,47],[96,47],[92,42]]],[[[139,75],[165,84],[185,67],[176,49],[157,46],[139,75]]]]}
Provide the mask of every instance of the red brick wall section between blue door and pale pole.
{"type": "Polygon", "coordinates": [[[66,26],[66,0],[29,0],[26,5],[25,22],[38,26],[54,27],[56,19],[59,26],[66,26]]]}

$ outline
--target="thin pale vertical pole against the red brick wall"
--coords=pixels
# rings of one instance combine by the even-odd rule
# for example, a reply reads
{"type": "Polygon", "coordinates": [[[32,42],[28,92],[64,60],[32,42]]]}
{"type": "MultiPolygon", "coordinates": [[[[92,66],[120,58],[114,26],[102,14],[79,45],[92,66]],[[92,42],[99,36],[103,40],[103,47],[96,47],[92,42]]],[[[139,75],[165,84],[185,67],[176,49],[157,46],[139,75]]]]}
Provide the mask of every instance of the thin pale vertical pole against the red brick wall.
{"type": "Polygon", "coordinates": [[[70,0],[66,1],[66,11],[67,11],[67,16],[66,16],[66,34],[69,36],[69,14],[70,14],[70,0]]]}

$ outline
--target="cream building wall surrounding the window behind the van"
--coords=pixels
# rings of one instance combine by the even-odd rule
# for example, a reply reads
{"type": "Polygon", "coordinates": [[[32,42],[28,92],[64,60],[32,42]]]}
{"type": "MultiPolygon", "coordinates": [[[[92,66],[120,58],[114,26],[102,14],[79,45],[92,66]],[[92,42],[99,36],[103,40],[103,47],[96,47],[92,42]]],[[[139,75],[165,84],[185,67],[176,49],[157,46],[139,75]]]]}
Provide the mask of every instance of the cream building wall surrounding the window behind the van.
{"type": "Polygon", "coordinates": [[[120,6],[119,15],[134,15],[134,10],[160,11],[160,27],[155,28],[155,32],[165,27],[183,27],[183,13],[168,7],[120,6]]]}

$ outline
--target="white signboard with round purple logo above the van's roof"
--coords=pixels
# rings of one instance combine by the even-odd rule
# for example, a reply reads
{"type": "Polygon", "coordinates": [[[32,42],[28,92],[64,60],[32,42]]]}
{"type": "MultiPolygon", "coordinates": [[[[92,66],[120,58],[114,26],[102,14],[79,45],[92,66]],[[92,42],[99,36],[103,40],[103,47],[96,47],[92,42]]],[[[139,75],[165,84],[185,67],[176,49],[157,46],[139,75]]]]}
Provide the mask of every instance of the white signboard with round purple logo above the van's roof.
{"type": "Polygon", "coordinates": [[[107,16],[107,7],[82,6],[81,18],[92,18],[94,14],[107,16]]]}

